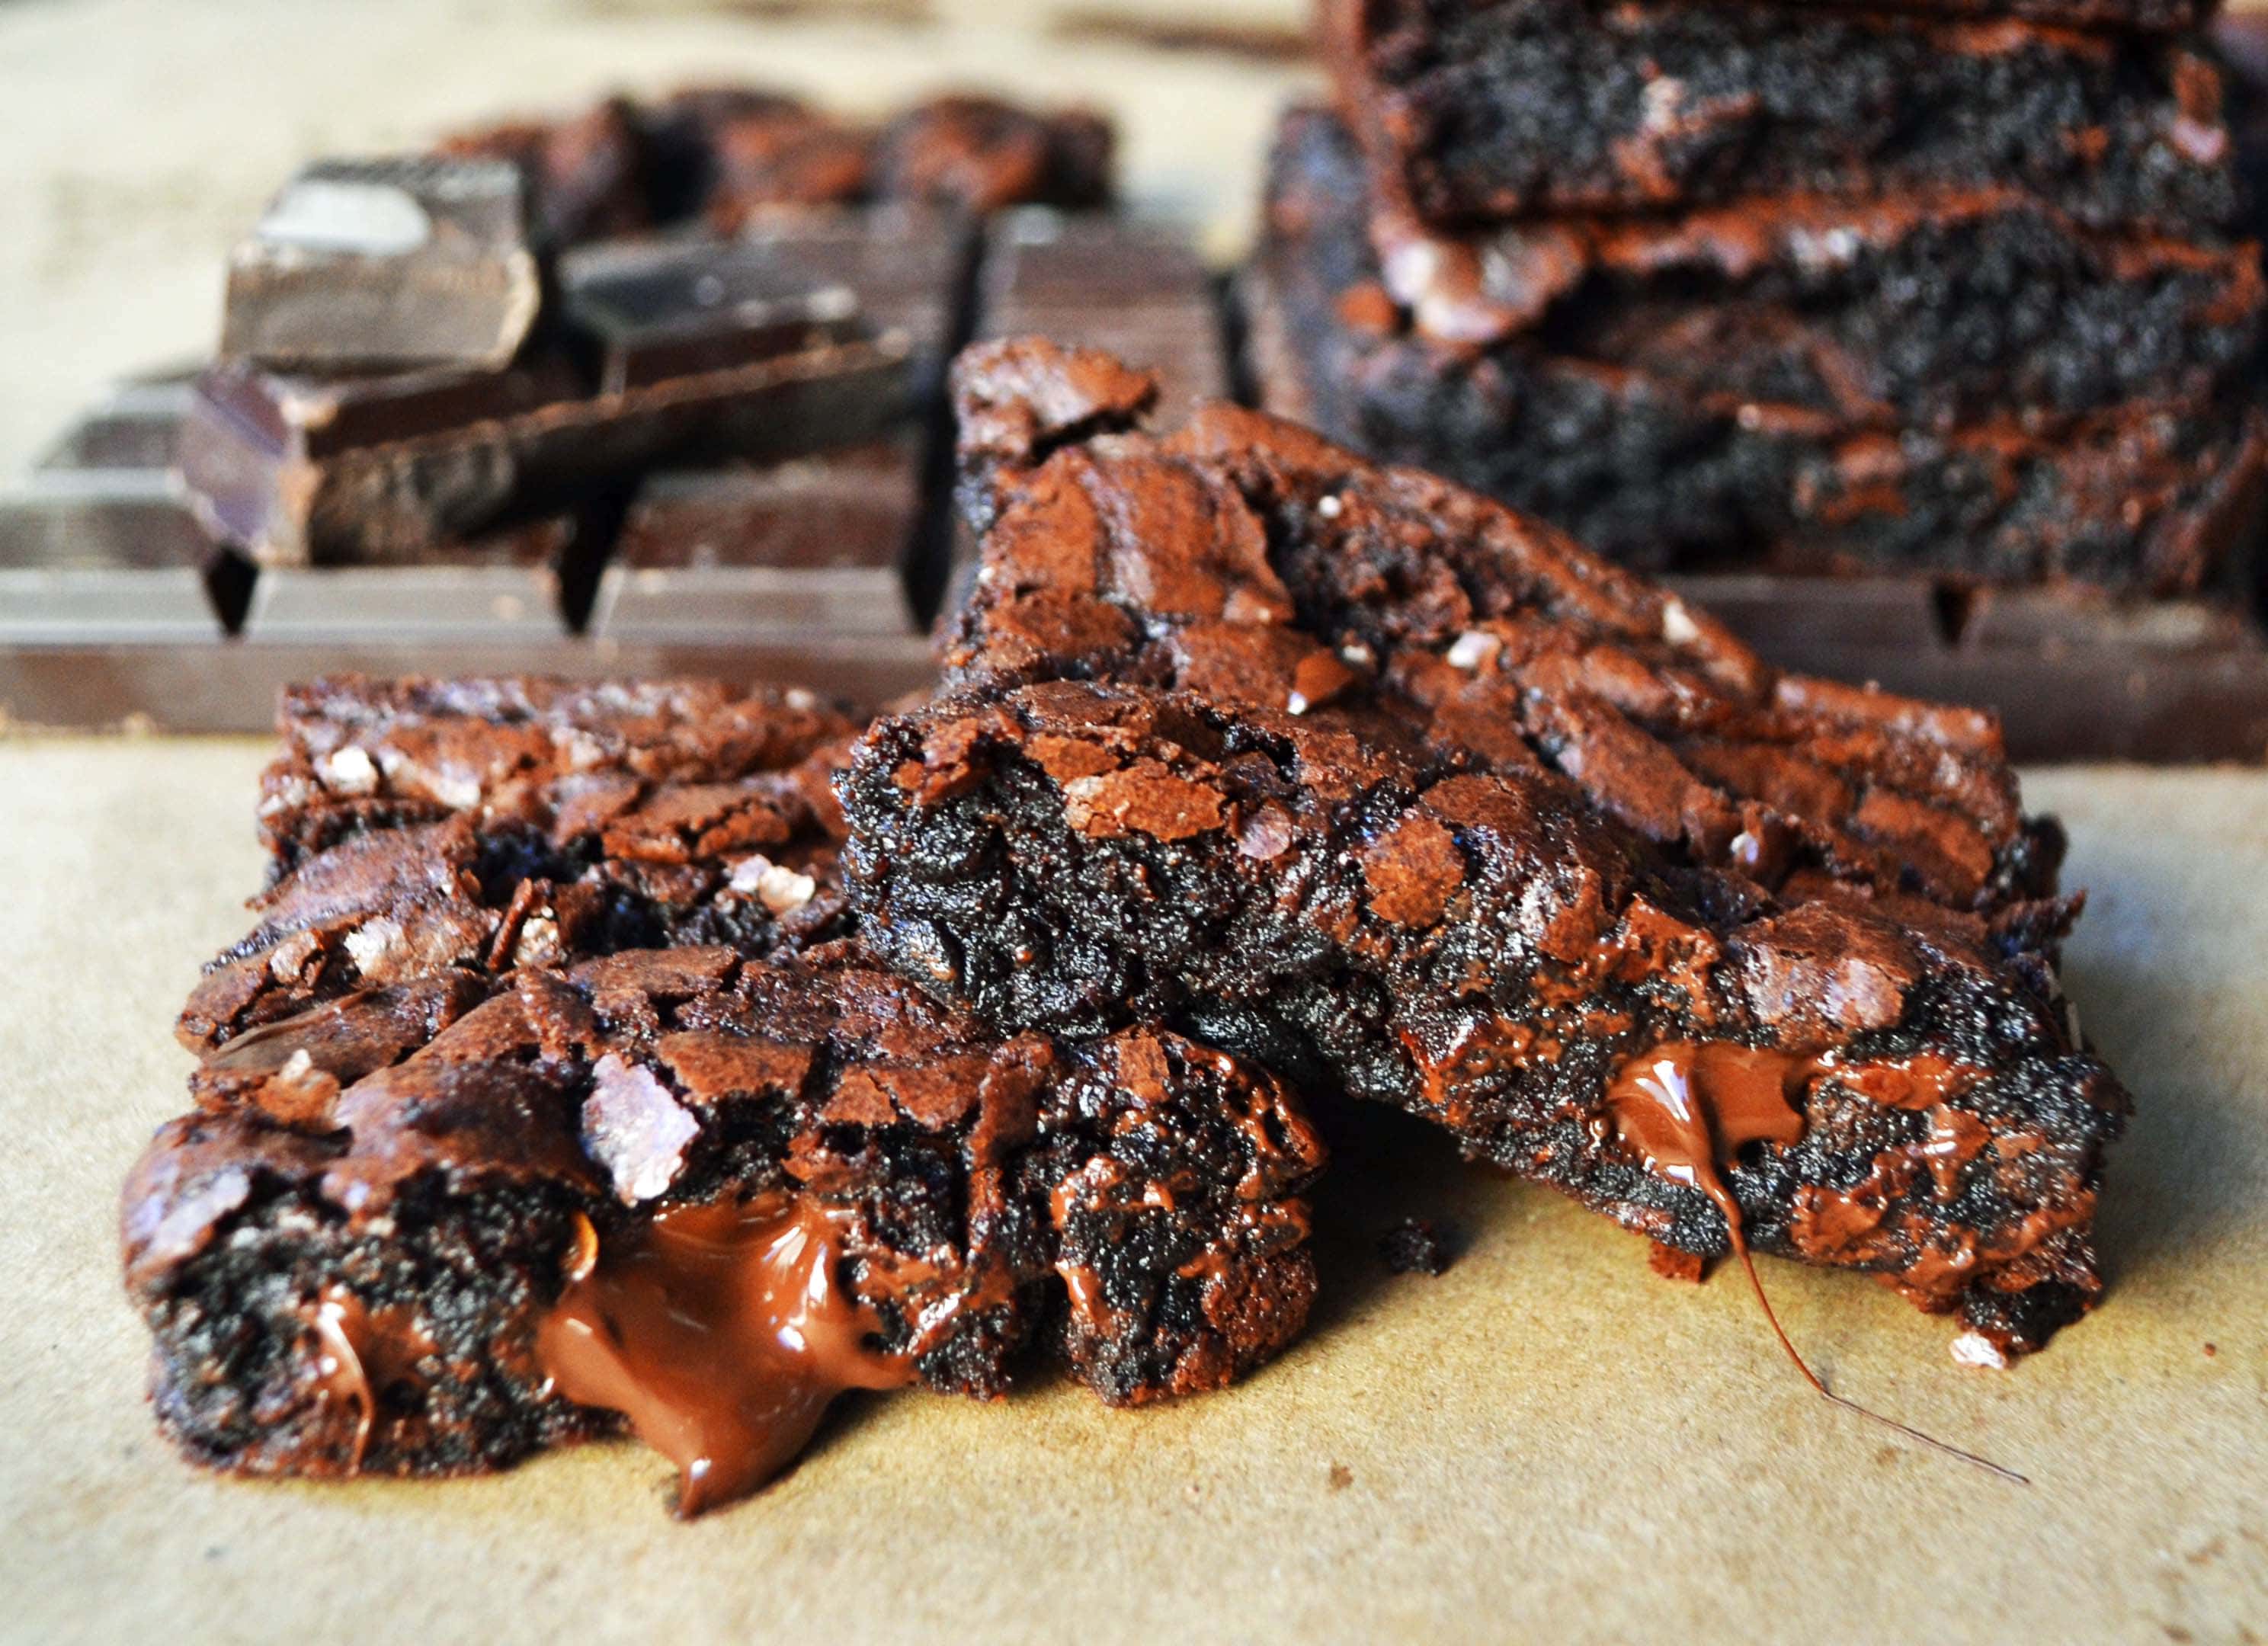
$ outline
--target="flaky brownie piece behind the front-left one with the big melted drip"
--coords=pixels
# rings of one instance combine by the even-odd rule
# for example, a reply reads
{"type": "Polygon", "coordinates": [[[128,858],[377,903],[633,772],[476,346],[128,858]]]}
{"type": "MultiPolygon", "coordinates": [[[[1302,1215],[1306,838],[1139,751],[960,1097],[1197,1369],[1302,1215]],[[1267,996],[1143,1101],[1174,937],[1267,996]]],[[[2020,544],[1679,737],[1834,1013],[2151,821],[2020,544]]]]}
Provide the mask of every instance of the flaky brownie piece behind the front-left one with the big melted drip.
{"type": "Polygon", "coordinates": [[[261,818],[279,880],[181,1013],[270,1066],[315,1004],[669,943],[841,934],[830,775],[850,721],[699,682],[295,687],[261,818]],[[243,1036],[243,1041],[238,1038],[243,1036]]]}

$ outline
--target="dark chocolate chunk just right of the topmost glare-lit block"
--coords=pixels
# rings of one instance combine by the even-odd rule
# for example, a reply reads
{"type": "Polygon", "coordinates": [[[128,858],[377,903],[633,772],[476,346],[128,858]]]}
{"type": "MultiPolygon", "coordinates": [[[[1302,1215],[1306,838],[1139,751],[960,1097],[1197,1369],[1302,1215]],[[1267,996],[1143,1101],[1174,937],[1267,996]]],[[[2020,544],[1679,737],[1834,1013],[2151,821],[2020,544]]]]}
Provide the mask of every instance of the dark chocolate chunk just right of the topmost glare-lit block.
{"type": "Polygon", "coordinates": [[[562,258],[558,281],[601,394],[848,342],[860,313],[848,286],[726,240],[596,245],[562,258]]]}

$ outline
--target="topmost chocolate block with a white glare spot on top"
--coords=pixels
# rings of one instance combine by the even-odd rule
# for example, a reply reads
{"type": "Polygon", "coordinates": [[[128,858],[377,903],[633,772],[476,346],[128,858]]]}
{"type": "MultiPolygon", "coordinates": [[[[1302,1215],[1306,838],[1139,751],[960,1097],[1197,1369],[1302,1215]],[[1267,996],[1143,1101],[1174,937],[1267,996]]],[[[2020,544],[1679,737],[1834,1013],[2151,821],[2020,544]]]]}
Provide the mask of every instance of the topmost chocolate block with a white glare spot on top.
{"type": "Polygon", "coordinates": [[[229,258],[220,354],[324,372],[501,367],[540,304],[517,166],[318,161],[229,258]]]}

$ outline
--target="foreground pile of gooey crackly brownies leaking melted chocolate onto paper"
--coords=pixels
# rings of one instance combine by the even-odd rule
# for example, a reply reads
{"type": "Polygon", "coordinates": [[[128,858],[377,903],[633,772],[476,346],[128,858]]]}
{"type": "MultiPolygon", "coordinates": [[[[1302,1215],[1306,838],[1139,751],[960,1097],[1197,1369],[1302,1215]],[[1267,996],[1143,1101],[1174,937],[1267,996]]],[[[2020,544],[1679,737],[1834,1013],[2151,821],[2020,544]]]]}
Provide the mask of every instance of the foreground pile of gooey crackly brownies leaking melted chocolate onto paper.
{"type": "MultiPolygon", "coordinates": [[[[161,1424],[254,1474],[635,1428],[692,1512],[850,1388],[1111,1403],[1295,1338],[1340,1100],[1960,1354],[2100,1290],[2127,1106],[1991,716],[1780,676],[1563,533],[1157,379],[955,367],[982,565],[873,723],[288,694],[272,884],[125,1197],[161,1424]]],[[[1359,1168],[1356,1168],[1359,1170],[1359,1168]]]]}

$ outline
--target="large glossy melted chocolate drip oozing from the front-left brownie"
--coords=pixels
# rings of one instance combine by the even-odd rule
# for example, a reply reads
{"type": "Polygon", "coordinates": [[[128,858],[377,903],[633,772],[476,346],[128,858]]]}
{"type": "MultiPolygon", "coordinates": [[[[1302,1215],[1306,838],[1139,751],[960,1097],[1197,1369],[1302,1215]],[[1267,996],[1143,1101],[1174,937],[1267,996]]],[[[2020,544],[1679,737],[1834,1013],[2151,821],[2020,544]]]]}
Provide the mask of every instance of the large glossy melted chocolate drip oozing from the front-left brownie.
{"type": "Polygon", "coordinates": [[[810,1199],[676,1206],[585,1242],[535,1338],[544,1374],[624,1412],[680,1469],[678,1515],[780,1474],[844,1390],[909,1383],[880,1320],[844,1288],[841,1222],[810,1199]]]}

